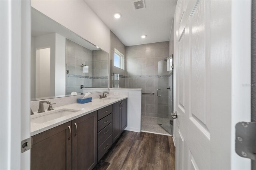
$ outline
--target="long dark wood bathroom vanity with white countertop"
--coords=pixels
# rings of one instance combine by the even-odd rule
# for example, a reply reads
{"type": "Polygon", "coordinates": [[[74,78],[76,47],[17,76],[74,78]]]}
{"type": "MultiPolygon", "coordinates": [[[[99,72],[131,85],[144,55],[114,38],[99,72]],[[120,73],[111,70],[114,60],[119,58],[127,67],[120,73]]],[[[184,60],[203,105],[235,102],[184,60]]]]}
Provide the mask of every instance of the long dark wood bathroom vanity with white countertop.
{"type": "Polygon", "coordinates": [[[94,99],[55,110],[63,109],[78,112],[45,123],[31,122],[32,170],[90,170],[127,127],[127,96],[94,99]]]}

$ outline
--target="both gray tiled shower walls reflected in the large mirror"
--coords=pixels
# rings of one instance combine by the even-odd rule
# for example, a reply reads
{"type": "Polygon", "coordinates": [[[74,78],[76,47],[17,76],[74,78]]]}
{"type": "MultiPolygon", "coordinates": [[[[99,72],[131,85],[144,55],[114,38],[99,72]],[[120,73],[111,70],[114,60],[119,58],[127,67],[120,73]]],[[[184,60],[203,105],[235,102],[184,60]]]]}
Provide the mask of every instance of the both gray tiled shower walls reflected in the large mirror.
{"type": "Polygon", "coordinates": [[[108,53],[101,49],[87,49],[66,39],[66,94],[76,91],[83,93],[84,87],[108,88],[108,53]],[[81,65],[89,66],[89,73],[83,73],[81,65]]]}

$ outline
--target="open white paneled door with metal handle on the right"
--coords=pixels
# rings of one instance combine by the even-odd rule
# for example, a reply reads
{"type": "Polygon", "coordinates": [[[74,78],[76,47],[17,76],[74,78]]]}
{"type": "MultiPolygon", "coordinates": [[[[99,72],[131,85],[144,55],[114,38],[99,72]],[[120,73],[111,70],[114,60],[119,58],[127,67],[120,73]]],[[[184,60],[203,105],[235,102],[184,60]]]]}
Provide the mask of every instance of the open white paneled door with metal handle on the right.
{"type": "MultiPolygon", "coordinates": [[[[178,170],[250,168],[248,160],[234,154],[233,118],[236,113],[232,110],[232,97],[236,93],[233,87],[237,85],[232,77],[232,65],[237,62],[232,54],[233,48],[237,47],[232,39],[234,10],[237,8],[231,1],[177,2],[174,16],[174,111],[177,111],[178,118],[174,120],[174,142],[178,170]]],[[[236,19],[234,22],[240,22],[241,18],[236,19]]],[[[246,32],[250,32],[250,28],[246,32]]],[[[246,54],[243,57],[250,57],[246,54]]],[[[242,64],[250,67],[248,62],[242,64]]],[[[246,77],[236,76],[241,76],[241,80],[246,77]]],[[[241,103],[250,99],[248,90],[244,94],[246,98],[241,98],[241,103]]],[[[248,107],[250,104],[244,103],[244,108],[248,107]]],[[[248,118],[250,113],[243,114],[248,118]]]]}

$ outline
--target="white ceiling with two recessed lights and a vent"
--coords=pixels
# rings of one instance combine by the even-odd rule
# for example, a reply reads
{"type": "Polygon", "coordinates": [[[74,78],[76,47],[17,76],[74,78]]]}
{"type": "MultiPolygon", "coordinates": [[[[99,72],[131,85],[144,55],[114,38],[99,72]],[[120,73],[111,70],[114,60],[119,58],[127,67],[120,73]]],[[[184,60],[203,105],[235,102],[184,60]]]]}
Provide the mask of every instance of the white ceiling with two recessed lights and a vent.
{"type": "Polygon", "coordinates": [[[177,0],[145,0],[134,10],[132,0],[85,0],[86,4],[126,46],[169,41],[177,0]],[[114,18],[119,12],[122,17],[114,18]],[[142,39],[141,36],[147,37],[142,39]]]}

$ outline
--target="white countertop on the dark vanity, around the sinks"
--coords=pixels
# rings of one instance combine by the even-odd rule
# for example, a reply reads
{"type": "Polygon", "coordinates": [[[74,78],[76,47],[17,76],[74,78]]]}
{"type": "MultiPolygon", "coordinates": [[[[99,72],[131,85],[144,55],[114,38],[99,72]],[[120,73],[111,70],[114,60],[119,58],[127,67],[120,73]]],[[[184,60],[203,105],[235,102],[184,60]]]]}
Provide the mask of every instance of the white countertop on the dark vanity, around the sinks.
{"type": "MultiPolygon", "coordinates": [[[[117,96],[113,96],[117,97],[117,96]]],[[[79,110],[76,113],[71,113],[70,115],[60,117],[58,119],[54,119],[52,121],[48,121],[45,123],[30,123],[30,136],[34,136],[35,134],[39,134],[41,132],[44,132],[46,130],[49,130],[50,128],[57,127],[58,125],[61,125],[63,123],[72,121],[78,117],[87,115],[89,113],[92,113],[94,111],[97,111],[99,109],[102,109],[103,107],[106,107],[108,105],[112,105],[118,101],[121,101],[123,99],[128,98],[127,96],[118,96],[118,99],[109,99],[108,97],[106,99],[93,99],[92,102],[85,103],[85,104],[70,104],[70,105],[64,105],[60,107],[54,108],[54,111],[58,111],[60,109],[70,109],[70,110],[79,110]]],[[[45,110],[44,113],[35,113],[34,115],[31,115],[30,119],[40,117],[42,115],[47,115],[49,113],[52,113],[53,111],[47,111],[45,110]]]]}

